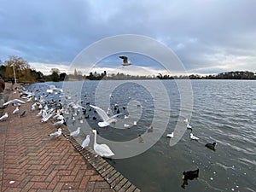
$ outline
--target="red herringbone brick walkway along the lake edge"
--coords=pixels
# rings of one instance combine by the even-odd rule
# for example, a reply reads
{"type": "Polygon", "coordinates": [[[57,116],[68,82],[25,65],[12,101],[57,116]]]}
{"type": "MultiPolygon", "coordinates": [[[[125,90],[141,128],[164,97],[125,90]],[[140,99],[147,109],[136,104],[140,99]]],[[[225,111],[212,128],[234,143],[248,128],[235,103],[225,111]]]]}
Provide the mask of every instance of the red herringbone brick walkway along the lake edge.
{"type": "MultiPolygon", "coordinates": [[[[8,100],[19,96],[11,92],[8,100]]],[[[55,126],[41,123],[31,105],[20,106],[22,118],[12,113],[15,107],[4,109],[9,119],[0,122],[0,191],[139,191],[72,137],[49,137],[55,126]]]]}

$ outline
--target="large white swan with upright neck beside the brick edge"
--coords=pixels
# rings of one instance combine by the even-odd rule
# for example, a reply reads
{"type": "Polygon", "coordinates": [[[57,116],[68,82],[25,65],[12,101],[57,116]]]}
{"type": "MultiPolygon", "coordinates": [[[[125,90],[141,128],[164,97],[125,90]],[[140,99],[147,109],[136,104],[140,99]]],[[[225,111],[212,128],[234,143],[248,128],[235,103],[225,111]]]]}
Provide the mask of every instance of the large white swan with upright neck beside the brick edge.
{"type": "Polygon", "coordinates": [[[114,154],[112,150],[108,147],[108,145],[96,143],[97,131],[92,130],[91,132],[94,134],[93,149],[96,152],[96,154],[100,155],[101,157],[107,157],[107,158],[112,157],[114,154]]]}

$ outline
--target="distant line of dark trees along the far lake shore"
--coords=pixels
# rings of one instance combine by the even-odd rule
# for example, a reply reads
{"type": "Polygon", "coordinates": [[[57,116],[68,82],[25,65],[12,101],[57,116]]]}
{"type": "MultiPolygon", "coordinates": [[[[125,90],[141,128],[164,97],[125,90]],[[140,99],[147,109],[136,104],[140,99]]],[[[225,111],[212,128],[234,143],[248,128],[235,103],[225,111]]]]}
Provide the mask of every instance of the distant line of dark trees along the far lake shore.
{"type": "Polygon", "coordinates": [[[32,69],[28,62],[18,56],[9,56],[8,61],[0,60],[0,74],[5,81],[17,79],[20,83],[35,83],[45,81],[63,81],[63,80],[119,80],[119,79],[256,79],[256,73],[248,71],[225,72],[201,76],[199,74],[191,75],[130,75],[124,73],[103,73],[90,72],[89,75],[83,75],[81,71],[74,69],[73,74],[61,73],[58,68],[52,68],[49,75],[32,69]]]}

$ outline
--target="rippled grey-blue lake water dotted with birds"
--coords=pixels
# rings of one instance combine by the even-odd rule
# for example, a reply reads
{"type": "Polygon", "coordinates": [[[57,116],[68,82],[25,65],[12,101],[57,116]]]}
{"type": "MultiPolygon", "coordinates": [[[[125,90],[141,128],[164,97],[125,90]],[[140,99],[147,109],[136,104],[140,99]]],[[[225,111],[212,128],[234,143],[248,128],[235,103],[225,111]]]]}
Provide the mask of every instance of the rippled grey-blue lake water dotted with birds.
{"type": "MultiPolygon", "coordinates": [[[[80,126],[85,135],[96,128],[100,133],[97,142],[108,143],[118,157],[109,163],[142,191],[256,191],[256,81],[190,82],[192,94],[182,92],[174,80],[65,82],[63,95],[72,97],[68,100],[62,97],[62,102],[82,100],[81,105],[89,115],[89,119],[85,119],[84,113],[73,111],[78,115],[72,120],[73,113],[66,114],[68,128],[73,131],[80,126]],[[180,108],[180,92],[191,94],[193,102],[187,103],[188,108],[186,105],[180,108]],[[116,112],[114,104],[119,104],[122,115],[108,129],[100,128],[97,125],[101,121],[99,116],[89,111],[86,102],[96,103],[104,110],[110,107],[111,113],[116,112]],[[190,115],[191,106],[189,124],[200,139],[191,141],[190,131],[180,128],[183,136],[171,146],[166,134],[177,127],[181,111],[190,115]],[[129,115],[130,121],[124,119],[124,115],[129,115]],[[134,120],[137,126],[132,126],[134,120]],[[131,128],[124,128],[124,123],[131,128]],[[151,125],[153,131],[149,132],[151,125]],[[144,143],[138,142],[139,134],[144,143]],[[216,151],[205,147],[212,142],[217,143],[216,151]],[[200,170],[199,177],[189,180],[183,189],[182,173],[196,168],[200,170]]],[[[48,82],[32,84],[28,89],[40,88],[38,95],[49,84],[63,85],[48,82]]],[[[47,99],[50,101],[58,96],[52,94],[47,99]]],[[[186,115],[180,118],[185,119],[186,115]]],[[[92,148],[93,137],[90,141],[92,148]]]]}

